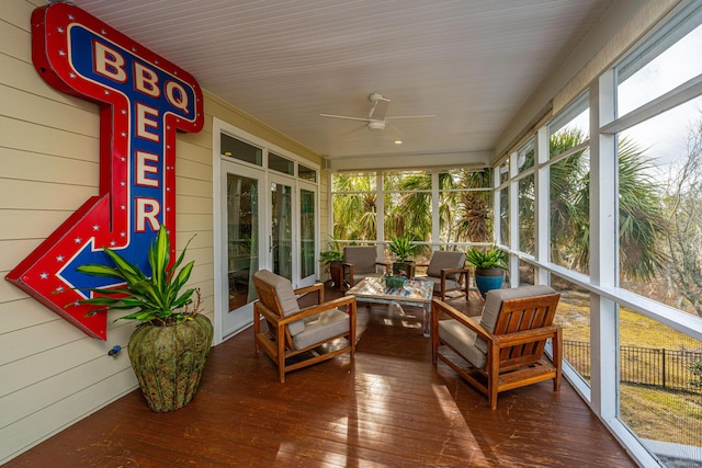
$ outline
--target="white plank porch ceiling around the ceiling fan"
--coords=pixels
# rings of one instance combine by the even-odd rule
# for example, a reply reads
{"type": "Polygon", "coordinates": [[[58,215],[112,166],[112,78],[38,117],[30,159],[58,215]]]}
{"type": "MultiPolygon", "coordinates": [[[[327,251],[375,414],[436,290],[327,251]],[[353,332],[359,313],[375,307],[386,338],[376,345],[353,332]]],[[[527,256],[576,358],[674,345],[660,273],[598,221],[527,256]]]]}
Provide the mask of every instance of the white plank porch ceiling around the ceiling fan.
{"type": "MultiPolygon", "coordinates": [[[[612,0],[73,0],[328,158],[491,151],[612,0]],[[371,93],[390,100],[384,130],[371,93]],[[395,140],[403,140],[396,145],[395,140]]],[[[401,165],[401,164],[400,164],[401,165]]]]}

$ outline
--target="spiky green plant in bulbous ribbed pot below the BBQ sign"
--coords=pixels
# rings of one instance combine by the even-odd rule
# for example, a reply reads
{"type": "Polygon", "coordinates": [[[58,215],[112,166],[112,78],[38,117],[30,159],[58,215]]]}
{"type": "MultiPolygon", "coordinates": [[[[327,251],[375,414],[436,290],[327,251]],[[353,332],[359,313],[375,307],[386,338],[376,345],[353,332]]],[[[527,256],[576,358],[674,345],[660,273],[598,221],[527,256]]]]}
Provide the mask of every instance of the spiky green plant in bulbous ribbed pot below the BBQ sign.
{"type": "Polygon", "coordinates": [[[186,249],[188,246],[169,266],[170,242],[166,227],[161,226],[148,250],[150,277],[109,248],[103,250],[113,266],[78,266],[83,274],[124,282],[115,289],[88,288],[95,295],[79,304],[97,306],[90,313],[105,309],[132,310],[117,320],[140,322],[127,349],[144,397],[156,412],[173,411],[192,400],[212,346],[213,327],[210,319],[200,313],[200,292],[182,290],[194,262],[177,271],[186,249]]]}

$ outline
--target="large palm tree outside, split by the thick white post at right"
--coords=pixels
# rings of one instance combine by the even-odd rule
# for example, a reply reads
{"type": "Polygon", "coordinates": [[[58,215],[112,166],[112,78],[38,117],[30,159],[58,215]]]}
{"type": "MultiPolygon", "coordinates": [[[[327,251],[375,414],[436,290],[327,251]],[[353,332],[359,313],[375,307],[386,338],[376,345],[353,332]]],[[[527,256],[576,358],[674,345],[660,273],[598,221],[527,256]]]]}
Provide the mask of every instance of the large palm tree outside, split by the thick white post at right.
{"type": "MultiPolygon", "coordinates": [[[[585,140],[578,130],[551,139],[558,155],[585,140]]],[[[660,240],[667,232],[661,196],[650,175],[652,160],[633,141],[619,141],[620,270],[630,278],[650,278],[665,263],[660,240]]],[[[590,261],[589,152],[581,150],[551,167],[552,260],[588,271],[590,261]]]]}

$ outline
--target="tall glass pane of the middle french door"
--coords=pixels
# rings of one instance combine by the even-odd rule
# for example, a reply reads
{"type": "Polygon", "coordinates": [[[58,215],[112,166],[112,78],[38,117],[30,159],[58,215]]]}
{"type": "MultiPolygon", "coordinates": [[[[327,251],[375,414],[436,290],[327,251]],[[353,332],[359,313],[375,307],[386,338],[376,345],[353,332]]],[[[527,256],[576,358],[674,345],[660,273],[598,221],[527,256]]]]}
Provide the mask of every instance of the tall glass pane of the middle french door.
{"type": "Polygon", "coordinates": [[[271,183],[273,273],[293,279],[293,195],[288,185],[271,183]]]}

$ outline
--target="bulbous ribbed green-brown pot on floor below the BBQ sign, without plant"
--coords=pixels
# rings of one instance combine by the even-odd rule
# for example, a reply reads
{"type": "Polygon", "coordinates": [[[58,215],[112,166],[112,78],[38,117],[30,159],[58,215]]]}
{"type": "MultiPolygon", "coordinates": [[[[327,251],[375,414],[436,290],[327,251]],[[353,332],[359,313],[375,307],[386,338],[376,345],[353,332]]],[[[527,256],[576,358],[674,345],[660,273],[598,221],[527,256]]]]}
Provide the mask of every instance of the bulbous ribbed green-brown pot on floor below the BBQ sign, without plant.
{"type": "Polygon", "coordinates": [[[203,315],[170,327],[147,323],[136,329],[129,338],[129,361],[151,410],[174,411],[192,400],[213,333],[203,315]]]}

